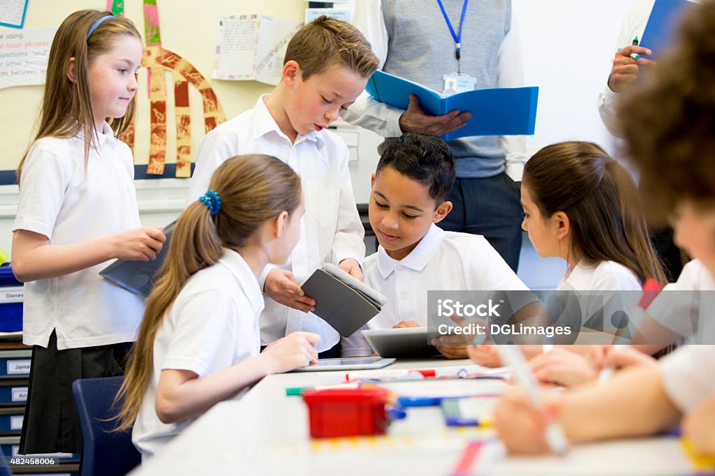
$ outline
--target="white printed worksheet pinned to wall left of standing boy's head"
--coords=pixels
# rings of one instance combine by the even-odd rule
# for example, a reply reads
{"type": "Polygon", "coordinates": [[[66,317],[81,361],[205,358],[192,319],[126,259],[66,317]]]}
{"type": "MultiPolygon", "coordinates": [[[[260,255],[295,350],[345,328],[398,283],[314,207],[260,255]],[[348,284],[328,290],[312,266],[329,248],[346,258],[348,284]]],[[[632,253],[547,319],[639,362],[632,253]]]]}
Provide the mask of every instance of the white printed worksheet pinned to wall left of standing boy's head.
{"type": "Polygon", "coordinates": [[[300,21],[265,14],[222,17],[211,77],[278,84],[288,41],[300,26],[300,21]]]}

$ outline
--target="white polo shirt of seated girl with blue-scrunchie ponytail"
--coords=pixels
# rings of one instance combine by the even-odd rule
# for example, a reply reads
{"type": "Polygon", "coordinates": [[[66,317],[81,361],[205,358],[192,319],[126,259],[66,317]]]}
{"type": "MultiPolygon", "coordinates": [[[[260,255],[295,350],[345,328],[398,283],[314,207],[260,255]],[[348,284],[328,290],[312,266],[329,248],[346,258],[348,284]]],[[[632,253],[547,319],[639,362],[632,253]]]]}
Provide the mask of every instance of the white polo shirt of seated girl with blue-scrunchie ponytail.
{"type": "Polygon", "coordinates": [[[154,402],[161,371],[189,370],[202,378],[258,355],[262,309],[256,277],[235,251],[224,249],[216,264],[189,278],[154,339],[154,372],[132,431],[143,459],[196,420],[159,420],[154,402]]]}

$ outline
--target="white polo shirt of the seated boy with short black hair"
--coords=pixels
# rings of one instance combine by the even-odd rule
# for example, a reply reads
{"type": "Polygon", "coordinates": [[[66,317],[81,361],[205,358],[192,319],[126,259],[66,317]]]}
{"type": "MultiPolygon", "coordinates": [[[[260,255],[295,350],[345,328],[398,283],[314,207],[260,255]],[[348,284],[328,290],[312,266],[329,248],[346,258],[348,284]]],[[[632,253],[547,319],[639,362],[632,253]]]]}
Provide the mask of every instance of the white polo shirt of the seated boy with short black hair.
{"type": "MultiPolygon", "coordinates": [[[[389,329],[400,321],[428,325],[428,291],[528,291],[483,236],[445,232],[435,224],[405,258],[390,258],[378,247],[364,266],[365,283],[384,294],[388,304],[363,329],[389,329]]],[[[345,357],[372,353],[360,331],[342,339],[345,357]]]]}

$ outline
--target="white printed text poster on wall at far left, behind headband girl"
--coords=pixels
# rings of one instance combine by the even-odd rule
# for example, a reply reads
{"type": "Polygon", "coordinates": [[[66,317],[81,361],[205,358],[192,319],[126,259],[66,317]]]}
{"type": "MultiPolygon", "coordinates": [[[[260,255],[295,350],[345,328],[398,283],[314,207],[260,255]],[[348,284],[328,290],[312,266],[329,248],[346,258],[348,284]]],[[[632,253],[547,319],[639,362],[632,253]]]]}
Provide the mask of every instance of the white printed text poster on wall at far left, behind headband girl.
{"type": "Polygon", "coordinates": [[[56,28],[0,30],[0,89],[44,84],[56,28]]]}

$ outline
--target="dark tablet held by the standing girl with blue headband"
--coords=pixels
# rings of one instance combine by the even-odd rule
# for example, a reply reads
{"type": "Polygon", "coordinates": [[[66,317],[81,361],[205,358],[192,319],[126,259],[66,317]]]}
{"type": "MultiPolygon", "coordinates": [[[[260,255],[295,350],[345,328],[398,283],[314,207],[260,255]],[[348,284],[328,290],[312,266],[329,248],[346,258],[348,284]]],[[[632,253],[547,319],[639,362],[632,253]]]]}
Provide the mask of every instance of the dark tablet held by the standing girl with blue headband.
{"type": "Polygon", "coordinates": [[[172,222],[164,228],[164,236],[167,237],[167,240],[164,242],[162,251],[157,253],[156,259],[152,261],[117,259],[102,269],[99,275],[129,292],[139,294],[141,297],[149,296],[149,292],[152,292],[154,282],[157,280],[159,268],[164,264],[164,258],[169,252],[169,241],[171,241],[174,232],[174,223],[172,222]]]}

